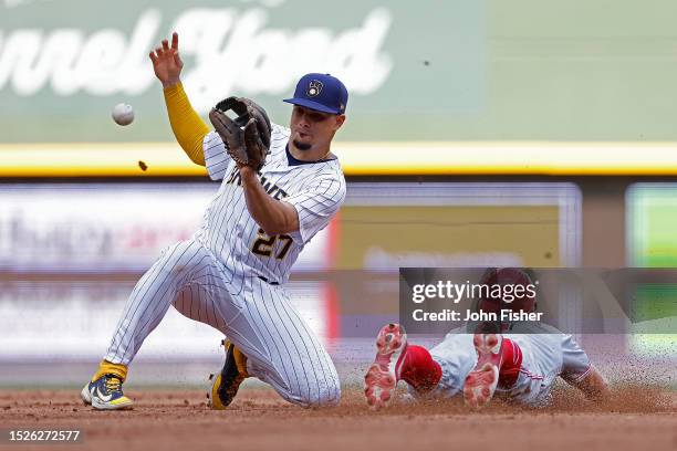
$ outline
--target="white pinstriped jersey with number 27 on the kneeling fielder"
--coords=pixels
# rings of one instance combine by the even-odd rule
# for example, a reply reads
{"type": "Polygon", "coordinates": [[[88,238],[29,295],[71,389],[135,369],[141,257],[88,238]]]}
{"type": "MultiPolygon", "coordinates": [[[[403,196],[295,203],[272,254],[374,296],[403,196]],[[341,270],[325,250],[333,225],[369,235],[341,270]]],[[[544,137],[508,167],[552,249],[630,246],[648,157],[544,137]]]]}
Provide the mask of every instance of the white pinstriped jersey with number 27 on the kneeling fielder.
{"type": "Polygon", "coordinates": [[[212,180],[223,180],[208,207],[196,239],[209,249],[237,279],[260,275],[284,283],[299,253],[325,228],[345,200],[345,178],[336,158],[317,162],[295,160],[288,150],[290,130],[272,126],[270,155],[259,178],[274,199],[291,203],[300,230],[269,237],[252,219],[244,200],[240,174],[221,137],[205,137],[205,161],[212,180]]]}

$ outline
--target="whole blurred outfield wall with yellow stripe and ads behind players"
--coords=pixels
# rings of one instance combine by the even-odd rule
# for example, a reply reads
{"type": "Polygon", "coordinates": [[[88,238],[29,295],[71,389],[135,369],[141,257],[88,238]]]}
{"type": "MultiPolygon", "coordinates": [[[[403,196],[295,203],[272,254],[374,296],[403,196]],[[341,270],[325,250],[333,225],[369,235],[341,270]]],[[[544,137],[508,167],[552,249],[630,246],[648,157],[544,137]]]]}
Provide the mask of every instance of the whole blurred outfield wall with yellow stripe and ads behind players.
{"type": "MultiPolygon", "coordinates": [[[[175,144],[147,60],[173,30],[202,114],[238,94],[287,124],[280,99],[301,74],[345,81],[333,149],[348,199],[290,290],[346,368],[397,317],[399,266],[677,263],[670,0],[346,0],[331,11],[3,0],[0,11],[0,386],[43,380],[45,363],[54,384],[84,381],[136,280],[190,237],[218,188],[175,144]],[[119,102],[135,107],[128,127],[111,119],[119,102]],[[369,274],[378,281],[354,283],[369,274]]],[[[650,312],[656,298],[676,308],[677,285],[638,302],[650,312]]],[[[676,337],[623,346],[674,358],[676,337]]],[[[170,311],[134,380],[197,384],[218,366],[219,339],[170,311]]]]}

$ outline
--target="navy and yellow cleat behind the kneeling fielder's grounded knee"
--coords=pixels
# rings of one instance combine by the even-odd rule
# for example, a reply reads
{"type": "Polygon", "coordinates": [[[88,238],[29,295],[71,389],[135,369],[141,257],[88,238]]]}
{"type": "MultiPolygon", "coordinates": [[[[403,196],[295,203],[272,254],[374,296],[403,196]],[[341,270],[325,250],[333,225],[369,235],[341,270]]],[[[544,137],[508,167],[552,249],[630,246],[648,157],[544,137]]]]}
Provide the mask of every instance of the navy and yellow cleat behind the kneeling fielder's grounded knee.
{"type": "Polygon", "coordinates": [[[211,387],[207,394],[209,407],[215,410],[226,409],[238,394],[240,384],[249,377],[247,356],[230,340],[223,340],[221,344],[226,348],[226,363],[220,374],[209,375],[211,387]]]}

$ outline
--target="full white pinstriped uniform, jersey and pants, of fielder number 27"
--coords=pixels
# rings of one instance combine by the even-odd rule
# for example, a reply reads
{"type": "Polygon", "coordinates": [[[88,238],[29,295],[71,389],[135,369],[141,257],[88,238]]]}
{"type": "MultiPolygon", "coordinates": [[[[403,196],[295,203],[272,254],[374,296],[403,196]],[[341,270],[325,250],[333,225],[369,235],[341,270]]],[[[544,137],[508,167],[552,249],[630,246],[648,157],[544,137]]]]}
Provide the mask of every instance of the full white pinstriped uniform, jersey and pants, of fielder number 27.
{"type": "Polygon", "coordinates": [[[277,237],[260,230],[247,209],[235,161],[220,136],[208,134],[206,166],[221,186],[192,239],[165,249],[134,287],[107,361],[128,365],[174,305],[223,333],[248,357],[248,374],[284,399],[302,406],[338,402],[336,369],[281,283],[305,243],[338,210],[345,179],[335,158],[295,160],[287,150],[289,136],[273,126],[271,155],[259,177],[270,196],[296,209],[300,230],[277,237]]]}

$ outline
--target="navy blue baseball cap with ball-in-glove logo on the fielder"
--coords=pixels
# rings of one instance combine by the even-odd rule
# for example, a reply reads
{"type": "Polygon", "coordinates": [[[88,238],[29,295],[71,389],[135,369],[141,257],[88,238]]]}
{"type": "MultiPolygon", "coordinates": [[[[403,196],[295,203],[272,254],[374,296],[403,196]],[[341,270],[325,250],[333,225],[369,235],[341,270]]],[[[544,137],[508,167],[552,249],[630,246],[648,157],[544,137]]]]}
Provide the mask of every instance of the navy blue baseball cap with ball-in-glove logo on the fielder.
{"type": "Polygon", "coordinates": [[[341,80],[330,74],[306,74],[296,83],[294,97],[284,102],[322,113],[344,114],[347,90],[341,80]]]}

